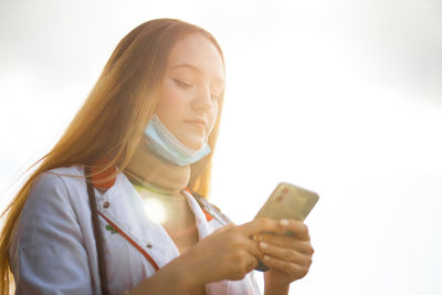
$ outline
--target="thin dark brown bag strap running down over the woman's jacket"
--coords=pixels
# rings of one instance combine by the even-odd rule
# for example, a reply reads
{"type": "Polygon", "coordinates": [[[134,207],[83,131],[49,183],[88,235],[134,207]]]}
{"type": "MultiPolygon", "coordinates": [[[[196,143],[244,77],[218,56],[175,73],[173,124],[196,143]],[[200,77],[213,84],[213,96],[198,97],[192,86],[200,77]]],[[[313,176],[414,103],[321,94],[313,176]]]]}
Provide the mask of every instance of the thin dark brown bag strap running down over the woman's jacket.
{"type": "Polygon", "coordinates": [[[91,168],[88,166],[85,166],[84,173],[86,176],[86,186],[87,186],[87,194],[90,197],[92,225],[93,225],[93,230],[94,230],[95,243],[96,243],[96,249],[97,249],[99,285],[102,288],[102,294],[108,295],[109,289],[107,286],[106,265],[105,265],[105,261],[104,261],[103,236],[102,236],[102,231],[99,230],[98,213],[97,213],[96,201],[95,201],[95,192],[94,192],[94,187],[92,186],[91,168]]]}

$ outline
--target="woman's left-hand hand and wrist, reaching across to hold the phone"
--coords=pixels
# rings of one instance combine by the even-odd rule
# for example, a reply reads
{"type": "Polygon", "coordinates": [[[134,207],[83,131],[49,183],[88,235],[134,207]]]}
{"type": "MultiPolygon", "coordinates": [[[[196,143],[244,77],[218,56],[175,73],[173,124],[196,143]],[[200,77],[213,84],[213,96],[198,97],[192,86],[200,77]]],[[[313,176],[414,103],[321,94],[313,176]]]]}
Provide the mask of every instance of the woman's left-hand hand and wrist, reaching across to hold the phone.
{"type": "Polygon", "coordinates": [[[193,289],[221,280],[242,280],[257,265],[262,256],[259,245],[251,239],[263,231],[283,234],[276,220],[255,219],[242,225],[228,224],[182,253],[156,275],[168,273],[176,278],[180,292],[193,289]]]}

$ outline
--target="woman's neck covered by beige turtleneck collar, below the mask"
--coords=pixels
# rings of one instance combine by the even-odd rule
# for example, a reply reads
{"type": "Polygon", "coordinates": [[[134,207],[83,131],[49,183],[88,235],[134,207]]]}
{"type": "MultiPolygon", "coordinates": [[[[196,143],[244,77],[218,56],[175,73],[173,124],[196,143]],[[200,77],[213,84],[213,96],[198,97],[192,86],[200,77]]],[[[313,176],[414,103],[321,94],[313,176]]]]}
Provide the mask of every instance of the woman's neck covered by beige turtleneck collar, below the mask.
{"type": "Polygon", "coordinates": [[[124,173],[130,182],[154,192],[176,194],[189,182],[190,165],[178,166],[159,158],[141,138],[124,173]]]}

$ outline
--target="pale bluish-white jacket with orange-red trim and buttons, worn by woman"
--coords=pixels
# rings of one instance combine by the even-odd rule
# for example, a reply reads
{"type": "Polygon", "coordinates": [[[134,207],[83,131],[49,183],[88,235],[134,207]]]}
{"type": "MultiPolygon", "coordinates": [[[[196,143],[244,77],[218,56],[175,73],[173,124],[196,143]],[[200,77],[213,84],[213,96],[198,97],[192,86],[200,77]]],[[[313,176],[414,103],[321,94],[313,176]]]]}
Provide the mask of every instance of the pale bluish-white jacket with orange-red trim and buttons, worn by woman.
{"type": "MultiPolygon", "coordinates": [[[[9,249],[15,294],[101,294],[83,169],[80,165],[53,169],[35,181],[9,249]]],[[[217,219],[208,221],[194,198],[187,191],[183,193],[194,214],[200,240],[223,225],[217,219]]],[[[95,194],[110,294],[131,289],[156,272],[136,246],[148,253],[159,267],[179,255],[166,230],[146,217],[141,197],[124,173],[117,175],[115,185],[104,194],[96,189],[95,194]],[[113,230],[109,222],[136,246],[113,230]]],[[[260,291],[252,272],[241,281],[207,284],[206,294],[255,295],[260,291]]]]}

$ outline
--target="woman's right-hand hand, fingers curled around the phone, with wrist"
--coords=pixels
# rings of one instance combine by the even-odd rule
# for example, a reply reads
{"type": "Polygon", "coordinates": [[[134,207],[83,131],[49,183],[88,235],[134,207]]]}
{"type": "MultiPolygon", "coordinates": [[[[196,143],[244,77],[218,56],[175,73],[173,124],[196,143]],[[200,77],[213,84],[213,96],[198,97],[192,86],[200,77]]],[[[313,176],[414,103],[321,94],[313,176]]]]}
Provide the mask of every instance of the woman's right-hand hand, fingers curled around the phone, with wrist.
{"type": "Polygon", "coordinates": [[[265,291],[272,291],[271,294],[276,294],[276,289],[288,291],[293,281],[304,277],[314,253],[307,225],[296,220],[281,220],[280,226],[283,232],[292,231],[293,236],[269,233],[253,236],[263,253],[263,263],[270,267],[264,281],[265,291]]]}

